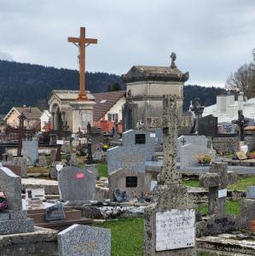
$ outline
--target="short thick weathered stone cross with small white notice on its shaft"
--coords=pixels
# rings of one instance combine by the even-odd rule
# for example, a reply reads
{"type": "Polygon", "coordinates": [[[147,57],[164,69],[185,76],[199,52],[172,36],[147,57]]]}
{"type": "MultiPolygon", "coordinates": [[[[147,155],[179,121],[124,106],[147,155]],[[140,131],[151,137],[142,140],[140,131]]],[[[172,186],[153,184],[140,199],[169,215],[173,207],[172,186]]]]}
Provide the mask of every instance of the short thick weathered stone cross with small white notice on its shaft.
{"type": "Polygon", "coordinates": [[[200,185],[209,187],[208,208],[209,214],[216,214],[224,218],[227,199],[227,186],[236,183],[236,173],[228,172],[228,164],[214,162],[206,174],[200,176],[200,185]]]}

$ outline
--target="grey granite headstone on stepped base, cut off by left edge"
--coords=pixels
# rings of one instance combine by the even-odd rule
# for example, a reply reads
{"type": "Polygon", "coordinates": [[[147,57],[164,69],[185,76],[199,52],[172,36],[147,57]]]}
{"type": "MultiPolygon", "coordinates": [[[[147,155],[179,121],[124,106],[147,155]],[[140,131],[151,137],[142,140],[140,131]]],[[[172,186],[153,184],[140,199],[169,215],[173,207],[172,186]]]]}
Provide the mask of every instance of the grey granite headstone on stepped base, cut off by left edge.
{"type": "Polygon", "coordinates": [[[0,235],[26,233],[34,230],[32,218],[22,210],[21,178],[0,166],[0,191],[6,197],[8,209],[0,212],[0,235]]]}

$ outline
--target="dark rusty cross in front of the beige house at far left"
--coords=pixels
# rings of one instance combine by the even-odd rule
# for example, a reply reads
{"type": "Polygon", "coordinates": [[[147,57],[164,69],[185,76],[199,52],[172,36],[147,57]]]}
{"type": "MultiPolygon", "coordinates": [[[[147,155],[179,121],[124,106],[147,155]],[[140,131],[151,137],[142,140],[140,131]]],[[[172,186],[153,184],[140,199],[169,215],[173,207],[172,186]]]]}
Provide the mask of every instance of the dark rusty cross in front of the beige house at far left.
{"type": "Polygon", "coordinates": [[[7,126],[6,128],[6,133],[15,133],[18,135],[18,151],[17,151],[17,156],[22,156],[22,138],[25,137],[26,134],[32,135],[35,133],[35,129],[32,130],[26,130],[26,127],[24,126],[24,121],[26,119],[26,116],[24,113],[21,113],[20,116],[18,117],[19,119],[19,128],[13,128],[11,126],[7,126]]]}

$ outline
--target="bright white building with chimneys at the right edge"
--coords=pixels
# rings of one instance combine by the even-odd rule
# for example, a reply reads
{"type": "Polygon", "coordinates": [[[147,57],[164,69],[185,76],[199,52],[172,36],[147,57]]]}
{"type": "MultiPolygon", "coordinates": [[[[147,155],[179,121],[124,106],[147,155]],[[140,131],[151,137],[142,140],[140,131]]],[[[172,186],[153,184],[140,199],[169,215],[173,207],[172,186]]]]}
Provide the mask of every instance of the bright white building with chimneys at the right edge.
{"type": "Polygon", "coordinates": [[[238,119],[238,110],[242,110],[246,118],[255,119],[255,98],[247,100],[243,93],[235,96],[229,91],[219,94],[217,103],[204,109],[203,117],[212,114],[217,117],[218,124],[231,123],[238,119]]]}

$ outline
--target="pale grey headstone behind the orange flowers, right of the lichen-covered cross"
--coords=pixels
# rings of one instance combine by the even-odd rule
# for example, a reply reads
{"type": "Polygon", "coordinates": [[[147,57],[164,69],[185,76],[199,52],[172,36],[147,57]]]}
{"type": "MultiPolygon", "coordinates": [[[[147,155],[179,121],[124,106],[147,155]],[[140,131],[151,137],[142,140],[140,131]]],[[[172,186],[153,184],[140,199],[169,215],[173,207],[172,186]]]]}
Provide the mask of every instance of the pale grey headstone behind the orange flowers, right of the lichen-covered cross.
{"type": "Polygon", "coordinates": [[[215,159],[216,152],[213,148],[205,148],[195,144],[186,144],[180,148],[180,168],[200,166],[197,157],[202,155],[210,155],[212,161],[215,159]]]}

